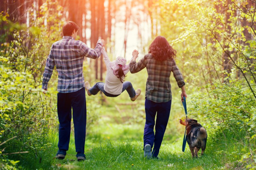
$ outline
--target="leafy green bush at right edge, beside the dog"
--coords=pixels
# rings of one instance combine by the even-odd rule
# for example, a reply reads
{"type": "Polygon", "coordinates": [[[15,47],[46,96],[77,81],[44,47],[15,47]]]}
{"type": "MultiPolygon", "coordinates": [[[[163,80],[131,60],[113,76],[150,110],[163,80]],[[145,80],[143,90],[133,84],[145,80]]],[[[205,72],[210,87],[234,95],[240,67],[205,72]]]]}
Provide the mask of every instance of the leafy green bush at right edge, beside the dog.
{"type": "MultiPolygon", "coordinates": [[[[215,83],[205,88],[208,88],[208,93],[201,92],[191,99],[188,117],[203,122],[212,140],[229,141],[234,147],[239,143],[244,145],[248,153],[240,155],[238,164],[244,168],[255,168],[256,100],[251,90],[240,81],[215,83]]],[[[239,150],[237,154],[245,150],[239,150]]]]}

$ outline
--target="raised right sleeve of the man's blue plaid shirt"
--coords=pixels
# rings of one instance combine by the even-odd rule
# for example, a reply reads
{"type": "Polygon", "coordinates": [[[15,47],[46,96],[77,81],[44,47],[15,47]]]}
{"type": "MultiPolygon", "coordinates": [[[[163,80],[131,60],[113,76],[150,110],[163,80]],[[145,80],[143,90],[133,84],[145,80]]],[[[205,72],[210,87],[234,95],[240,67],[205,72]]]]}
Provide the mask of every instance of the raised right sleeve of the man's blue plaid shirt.
{"type": "Polygon", "coordinates": [[[97,59],[101,56],[102,43],[98,40],[97,45],[94,49],[89,48],[84,42],[81,42],[80,52],[82,56],[97,59]]]}

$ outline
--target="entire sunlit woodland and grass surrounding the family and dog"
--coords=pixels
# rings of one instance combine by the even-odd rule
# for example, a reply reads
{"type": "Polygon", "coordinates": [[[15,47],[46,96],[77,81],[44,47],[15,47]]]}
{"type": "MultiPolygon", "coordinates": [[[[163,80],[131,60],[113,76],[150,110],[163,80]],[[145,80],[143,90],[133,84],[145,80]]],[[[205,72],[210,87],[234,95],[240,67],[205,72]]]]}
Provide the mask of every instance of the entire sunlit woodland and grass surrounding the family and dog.
{"type": "MultiPolygon", "coordinates": [[[[1,169],[255,169],[255,0],[1,0],[1,169]],[[177,50],[188,94],[188,116],[208,132],[205,155],[181,152],[184,118],[180,89],[171,76],[172,108],[159,160],[143,158],[147,73],[128,74],[142,94],[131,102],[86,96],[85,162],[75,161],[73,130],[68,155],[57,152],[57,71],[46,95],[42,74],[51,44],[65,21],[76,22],[77,39],[94,48],[105,40],[112,60],[131,52],[139,58],[157,35],[177,50]]],[[[103,58],[85,59],[85,80],[104,81],[103,58]]]]}

